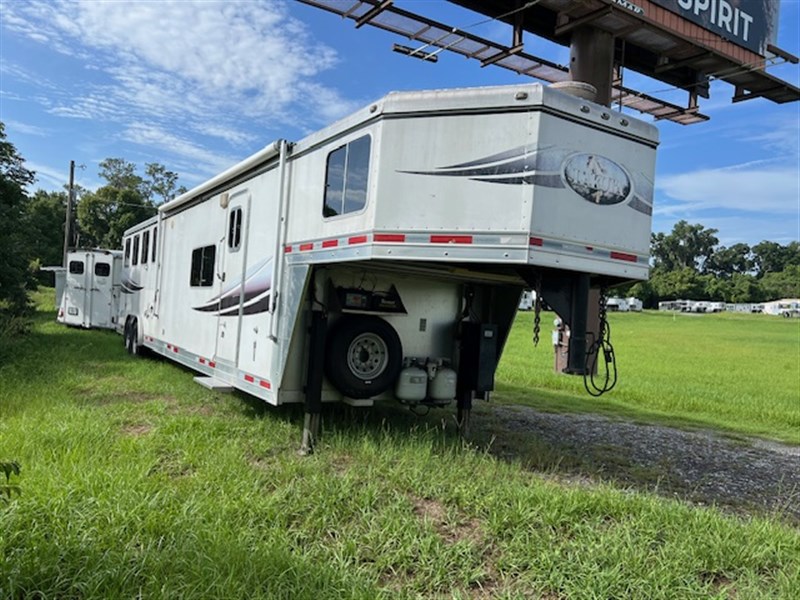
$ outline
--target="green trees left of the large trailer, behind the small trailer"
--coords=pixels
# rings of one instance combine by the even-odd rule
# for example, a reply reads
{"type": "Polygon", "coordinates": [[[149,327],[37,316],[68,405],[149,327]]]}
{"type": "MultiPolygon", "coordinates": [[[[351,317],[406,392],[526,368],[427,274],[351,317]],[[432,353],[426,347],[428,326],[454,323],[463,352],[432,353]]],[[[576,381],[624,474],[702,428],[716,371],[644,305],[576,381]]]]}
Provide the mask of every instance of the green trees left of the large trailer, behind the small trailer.
{"type": "MultiPolygon", "coordinates": [[[[105,184],[97,190],[73,186],[70,247],[120,248],[126,229],[186,191],[178,186],[177,173],[159,163],[145,164],[139,175],[135,164],[107,158],[98,175],[105,184]]],[[[63,262],[68,191],[29,194],[34,182],[35,173],[25,167],[0,122],[0,320],[26,311],[28,291],[47,281],[40,267],[63,262]]]]}

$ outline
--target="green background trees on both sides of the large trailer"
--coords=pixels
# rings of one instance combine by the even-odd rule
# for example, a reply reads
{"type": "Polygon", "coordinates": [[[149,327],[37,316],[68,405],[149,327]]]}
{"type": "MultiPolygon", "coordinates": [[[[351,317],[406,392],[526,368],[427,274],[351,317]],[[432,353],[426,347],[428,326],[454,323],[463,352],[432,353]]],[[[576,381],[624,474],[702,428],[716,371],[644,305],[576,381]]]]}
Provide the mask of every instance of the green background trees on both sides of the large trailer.
{"type": "MultiPolygon", "coordinates": [[[[70,245],[120,248],[122,234],[156,214],[157,206],[185,191],[178,175],[158,163],[136,165],[122,158],[100,162],[105,184],[90,191],[76,186],[76,232],[70,245]]],[[[0,122],[0,317],[19,314],[38,269],[60,265],[64,247],[66,191],[26,191],[33,171],[6,139],[0,122]]],[[[716,229],[680,221],[670,233],[652,234],[650,280],[615,294],[636,296],[645,307],[662,300],[763,302],[800,297],[800,243],[763,241],[721,246],[716,229]]]]}

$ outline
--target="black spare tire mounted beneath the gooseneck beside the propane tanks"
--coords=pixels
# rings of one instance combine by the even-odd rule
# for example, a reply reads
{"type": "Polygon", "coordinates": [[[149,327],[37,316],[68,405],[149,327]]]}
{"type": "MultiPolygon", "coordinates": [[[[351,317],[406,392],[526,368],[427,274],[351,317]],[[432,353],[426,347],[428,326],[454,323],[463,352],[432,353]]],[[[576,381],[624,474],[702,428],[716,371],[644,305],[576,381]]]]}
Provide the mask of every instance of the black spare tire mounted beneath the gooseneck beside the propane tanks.
{"type": "Polygon", "coordinates": [[[403,367],[400,336],[373,316],[340,318],[328,332],[325,375],[342,394],[362,400],[394,385],[403,367]]]}

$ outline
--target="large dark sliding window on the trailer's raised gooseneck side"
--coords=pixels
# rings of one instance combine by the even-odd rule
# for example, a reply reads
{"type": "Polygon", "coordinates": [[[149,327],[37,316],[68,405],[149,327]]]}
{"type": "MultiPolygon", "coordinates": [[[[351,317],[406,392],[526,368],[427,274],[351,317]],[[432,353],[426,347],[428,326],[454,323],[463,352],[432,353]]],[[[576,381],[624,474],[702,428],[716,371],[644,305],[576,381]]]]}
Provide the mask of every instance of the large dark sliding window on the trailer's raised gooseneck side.
{"type": "Polygon", "coordinates": [[[365,135],[328,154],[322,216],[344,215],[366,206],[370,145],[365,135]]]}

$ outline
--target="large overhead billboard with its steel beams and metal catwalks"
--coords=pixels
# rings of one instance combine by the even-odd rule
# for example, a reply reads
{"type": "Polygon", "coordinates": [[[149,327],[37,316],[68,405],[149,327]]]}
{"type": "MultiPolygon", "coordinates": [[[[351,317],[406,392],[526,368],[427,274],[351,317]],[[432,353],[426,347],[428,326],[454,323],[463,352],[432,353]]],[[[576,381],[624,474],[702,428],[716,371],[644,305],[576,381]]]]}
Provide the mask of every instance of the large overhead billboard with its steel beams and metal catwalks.
{"type": "Polygon", "coordinates": [[[699,98],[709,82],[734,86],[733,101],[800,99],[800,88],[767,72],[777,62],[797,63],[775,45],[777,0],[449,0],[510,26],[510,43],[486,39],[421,14],[424,2],[409,0],[300,0],[355,23],[412,41],[395,51],[435,60],[442,51],[496,65],[549,83],[588,79],[601,90],[599,102],[656,119],[689,125],[708,119],[699,98]],[[530,33],[570,46],[570,66],[526,51],[530,33]],[[684,105],[624,84],[626,69],[679,90],[684,105]]]}

